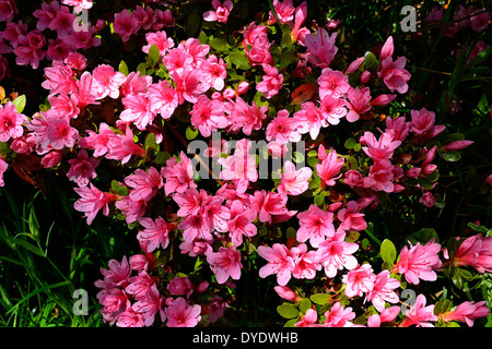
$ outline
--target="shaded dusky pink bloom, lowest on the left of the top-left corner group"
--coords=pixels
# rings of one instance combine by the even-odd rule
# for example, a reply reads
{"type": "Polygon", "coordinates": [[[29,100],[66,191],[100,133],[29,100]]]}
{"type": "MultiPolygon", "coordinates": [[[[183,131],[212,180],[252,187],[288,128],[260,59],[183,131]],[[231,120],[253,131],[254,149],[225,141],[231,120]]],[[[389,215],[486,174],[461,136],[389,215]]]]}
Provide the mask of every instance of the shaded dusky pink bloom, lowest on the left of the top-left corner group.
{"type": "Polygon", "coordinates": [[[43,50],[45,45],[46,39],[38,31],[32,31],[26,36],[19,36],[19,46],[13,50],[16,56],[15,63],[17,65],[31,64],[33,69],[37,69],[39,61],[45,58],[43,50]]]}

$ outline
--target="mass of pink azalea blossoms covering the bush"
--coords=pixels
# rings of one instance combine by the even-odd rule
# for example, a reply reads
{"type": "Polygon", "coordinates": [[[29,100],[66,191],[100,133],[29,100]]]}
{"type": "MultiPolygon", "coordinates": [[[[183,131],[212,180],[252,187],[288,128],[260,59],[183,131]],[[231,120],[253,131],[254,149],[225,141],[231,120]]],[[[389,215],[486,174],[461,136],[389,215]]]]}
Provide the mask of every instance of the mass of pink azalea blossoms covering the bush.
{"type": "MultiPolygon", "coordinates": [[[[0,19],[10,21],[15,2],[3,2],[11,10],[0,19]]],[[[79,10],[92,4],[62,3],[79,10]]],[[[142,254],[109,261],[95,282],[101,313],[112,325],[215,323],[227,305],[220,290],[234,288],[251,256],[259,257],[260,278],[274,276],[277,292],[291,302],[283,305],[302,309],[290,325],[472,325],[487,316],[484,302],[455,309],[448,302],[436,311],[423,293],[406,312],[396,304],[408,286],[435,281],[437,273],[492,273],[491,237],[479,233],[447,246],[435,238],[412,241],[398,255],[385,240],[383,267],[358,241],[371,232],[367,213],[390,197],[414,196],[425,209],[442,204],[441,157],[473,142],[447,137],[426,108],[391,111],[411,79],[391,36],[374,52],[345,61],[337,55],[336,25],[309,23],[307,2],[272,4],[265,21],[241,27],[230,40],[206,32],[178,40],[167,29],[176,24],[172,10],[150,5],[86,23],[80,32],[72,26],[75,15],[57,1],[35,12],[35,31],[9,22],[2,39],[17,64],[35,69],[45,55],[52,64],[44,70],[44,110],[26,117],[19,100],[0,109],[7,145],[0,184],[13,159],[36,159],[73,182],[73,208],[87,225],[102,214],[136,231],[142,254]],[[125,62],[93,67],[79,52],[101,45],[94,33],[107,25],[124,45],[145,33],[139,52],[145,62],[138,70],[125,62]],[[57,35],[47,51],[46,28],[57,35]],[[351,131],[340,144],[335,134],[341,128],[351,131]],[[188,141],[197,136],[208,142],[203,154],[190,152],[188,141]],[[259,155],[257,141],[266,141],[259,155]],[[307,153],[288,158],[300,142],[307,153]],[[276,159],[284,161],[266,179],[259,163],[276,159]],[[197,163],[210,170],[210,161],[220,165],[215,181],[198,176],[203,171],[197,163]],[[110,182],[99,179],[101,168],[109,168],[110,182]],[[176,260],[195,266],[183,270],[176,260]],[[326,293],[309,300],[307,290],[288,286],[298,280],[321,280],[326,293]]],[[[203,20],[211,27],[227,24],[233,2],[213,0],[211,7],[203,20]]],[[[473,31],[483,31],[483,21],[473,21],[473,31]]]]}

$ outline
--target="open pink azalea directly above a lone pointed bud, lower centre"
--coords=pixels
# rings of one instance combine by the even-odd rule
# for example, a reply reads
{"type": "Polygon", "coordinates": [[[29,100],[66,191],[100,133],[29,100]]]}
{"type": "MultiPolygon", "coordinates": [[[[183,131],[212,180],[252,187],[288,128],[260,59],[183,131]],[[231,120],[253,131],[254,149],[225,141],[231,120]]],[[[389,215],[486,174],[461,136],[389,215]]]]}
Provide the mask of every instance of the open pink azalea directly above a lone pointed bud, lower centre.
{"type": "Polygon", "coordinates": [[[291,279],[294,270],[294,257],[288,248],[281,243],[274,243],[271,248],[258,246],[258,254],[268,261],[259,270],[259,276],[265,278],[269,275],[277,275],[277,282],[285,286],[291,279]]]}

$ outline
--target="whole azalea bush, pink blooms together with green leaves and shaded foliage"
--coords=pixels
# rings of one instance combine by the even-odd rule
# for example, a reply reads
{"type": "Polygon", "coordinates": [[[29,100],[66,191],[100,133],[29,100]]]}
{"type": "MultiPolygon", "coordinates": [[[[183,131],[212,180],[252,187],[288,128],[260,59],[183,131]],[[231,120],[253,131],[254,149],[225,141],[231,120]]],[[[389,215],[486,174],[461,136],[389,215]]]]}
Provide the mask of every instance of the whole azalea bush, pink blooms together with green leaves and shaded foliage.
{"type": "Polygon", "coordinates": [[[329,2],[0,2],[0,183],[67,185],[131,238],[97,261],[105,324],[232,326],[261,299],[261,325],[490,324],[488,10],[422,5],[405,37],[391,10],[364,48],[329,2]]]}

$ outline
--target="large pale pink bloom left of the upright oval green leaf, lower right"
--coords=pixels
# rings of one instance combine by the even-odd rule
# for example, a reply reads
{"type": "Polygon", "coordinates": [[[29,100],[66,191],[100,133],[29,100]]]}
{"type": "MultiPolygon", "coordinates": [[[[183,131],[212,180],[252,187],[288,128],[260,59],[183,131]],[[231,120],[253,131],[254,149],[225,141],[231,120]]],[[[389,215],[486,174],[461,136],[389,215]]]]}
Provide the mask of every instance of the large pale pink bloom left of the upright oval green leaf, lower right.
{"type": "Polygon", "coordinates": [[[344,231],[336,232],[318,244],[316,258],[325,267],[325,274],[329,278],[333,278],[338,270],[351,270],[358,265],[358,260],[352,254],[359,250],[359,245],[343,241],[344,237],[344,231]]]}

